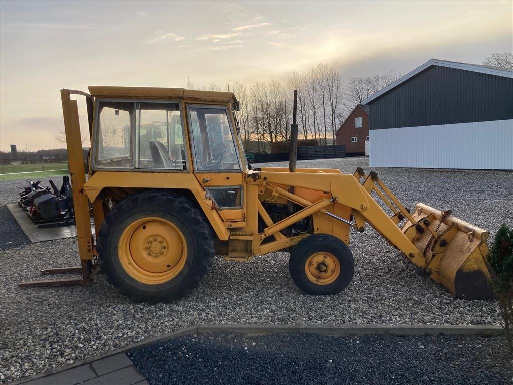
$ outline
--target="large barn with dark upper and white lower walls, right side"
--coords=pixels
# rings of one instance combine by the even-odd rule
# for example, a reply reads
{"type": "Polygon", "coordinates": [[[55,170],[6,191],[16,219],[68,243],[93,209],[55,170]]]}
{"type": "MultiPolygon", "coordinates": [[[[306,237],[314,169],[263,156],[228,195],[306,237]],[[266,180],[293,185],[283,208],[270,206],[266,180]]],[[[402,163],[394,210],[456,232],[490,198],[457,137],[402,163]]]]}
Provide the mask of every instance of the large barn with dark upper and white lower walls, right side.
{"type": "Polygon", "coordinates": [[[431,59],[363,104],[370,166],[513,169],[513,70],[431,59]]]}

